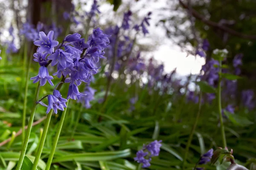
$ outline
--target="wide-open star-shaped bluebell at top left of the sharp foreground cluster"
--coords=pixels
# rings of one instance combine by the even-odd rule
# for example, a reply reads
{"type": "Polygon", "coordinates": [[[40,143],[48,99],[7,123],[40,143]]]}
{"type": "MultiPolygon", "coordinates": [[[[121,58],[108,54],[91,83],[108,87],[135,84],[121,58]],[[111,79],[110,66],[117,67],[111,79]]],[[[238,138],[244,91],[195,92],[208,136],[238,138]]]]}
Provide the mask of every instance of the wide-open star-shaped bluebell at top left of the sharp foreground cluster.
{"type": "Polygon", "coordinates": [[[39,40],[36,40],[34,42],[35,45],[39,46],[40,48],[38,49],[39,53],[48,53],[52,54],[54,51],[54,47],[58,45],[58,41],[53,40],[53,31],[49,31],[48,35],[41,31],[39,32],[39,40]]]}

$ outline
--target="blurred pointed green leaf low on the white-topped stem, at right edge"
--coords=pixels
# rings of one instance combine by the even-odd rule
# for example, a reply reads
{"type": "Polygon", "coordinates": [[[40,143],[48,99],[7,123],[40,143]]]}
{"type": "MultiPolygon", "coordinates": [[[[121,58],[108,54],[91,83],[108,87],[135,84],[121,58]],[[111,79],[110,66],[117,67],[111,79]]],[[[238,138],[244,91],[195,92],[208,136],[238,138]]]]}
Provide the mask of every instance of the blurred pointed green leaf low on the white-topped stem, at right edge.
{"type": "Polygon", "coordinates": [[[240,116],[238,114],[232,114],[232,113],[229,113],[227,111],[224,111],[224,113],[234,125],[248,126],[248,125],[253,124],[253,122],[248,120],[247,117],[245,117],[245,116],[240,116]]]}

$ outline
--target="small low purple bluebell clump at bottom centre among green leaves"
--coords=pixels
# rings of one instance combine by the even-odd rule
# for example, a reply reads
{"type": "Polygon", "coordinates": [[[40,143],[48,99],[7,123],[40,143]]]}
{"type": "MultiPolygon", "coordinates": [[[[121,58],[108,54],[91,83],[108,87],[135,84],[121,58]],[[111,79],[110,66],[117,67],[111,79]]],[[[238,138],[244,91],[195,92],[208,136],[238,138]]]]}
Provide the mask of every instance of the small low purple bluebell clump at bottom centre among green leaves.
{"type": "Polygon", "coordinates": [[[151,157],[158,156],[160,153],[160,147],[162,146],[161,142],[161,140],[155,140],[154,142],[144,145],[143,149],[136,153],[134,160],[140,164],[143,164],[143,168],[150,167],[151,157]]]}

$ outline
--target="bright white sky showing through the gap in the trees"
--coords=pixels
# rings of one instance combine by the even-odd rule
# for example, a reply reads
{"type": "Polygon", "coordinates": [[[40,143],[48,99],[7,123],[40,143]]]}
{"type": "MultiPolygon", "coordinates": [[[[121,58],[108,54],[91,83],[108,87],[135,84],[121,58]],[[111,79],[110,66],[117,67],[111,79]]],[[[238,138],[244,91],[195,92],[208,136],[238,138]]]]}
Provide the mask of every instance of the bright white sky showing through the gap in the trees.
{"type": "MultiPolygon", "coordinates": [[[[141,36],[138,38],[139,43],[147,44],[156,41],[158,46],[155,47],[152,53],[146,54],[147,57],[154,57],[160,63],[165,65],[165,72],[169,73],[177,68],[177,74],[180,76],[186,76],[190,73],[199,74],[201,66],[204,65],[205,60],[199,56],[188,55],[186,52],[176,45],[172,40],[166,37],[166,31],[161,26],[155,26],[157,21],[161,17],[169,16],[175,13],[175,11],[162,10],[162,8],[168,8],[175,5],[175,3],[169,3],[169,0],[122,0],[122,5],[119,7],[119,11],[123,11],[124,8],[130,6],[131,11],[138,14],[139,18],[143,18],[148,11],[152,11],[151,26],[148,28],[149,34],[146,37],[141,36]],[[143,10],[142,10],[143,9],[143,10]]],[[[90,5],[88,4],[88,8],[90,5]]],[[[100,6],[101,16],[103,20],[108,20],[114,16],[113,6],[109,3],[104,3],[100,6]],[[107,16],[108,18],[104,18],[107,16]]],[[[192,48],[192,47],[188,47],[192,48]]]]}

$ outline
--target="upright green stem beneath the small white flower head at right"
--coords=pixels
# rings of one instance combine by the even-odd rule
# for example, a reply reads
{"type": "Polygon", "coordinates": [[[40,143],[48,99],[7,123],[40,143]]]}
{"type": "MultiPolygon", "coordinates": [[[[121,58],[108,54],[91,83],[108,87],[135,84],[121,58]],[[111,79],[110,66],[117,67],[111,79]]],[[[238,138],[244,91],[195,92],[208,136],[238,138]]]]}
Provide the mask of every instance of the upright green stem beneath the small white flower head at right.
{"type": "Polygon", "coordinates": [[[218,82],[218,112],[220,116],[220,123],[221,123],[221,137],[222,137],[222,144],[223,147],[227,147],[226,142],[226,135],[225,135],[225,127],[223,123],[222,111],[221,111],[221,61],[219,61],[219,82],[218,82]]]}

